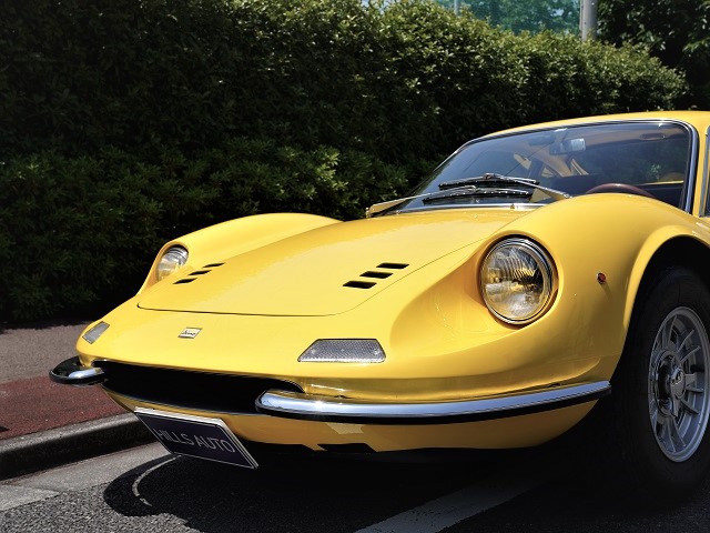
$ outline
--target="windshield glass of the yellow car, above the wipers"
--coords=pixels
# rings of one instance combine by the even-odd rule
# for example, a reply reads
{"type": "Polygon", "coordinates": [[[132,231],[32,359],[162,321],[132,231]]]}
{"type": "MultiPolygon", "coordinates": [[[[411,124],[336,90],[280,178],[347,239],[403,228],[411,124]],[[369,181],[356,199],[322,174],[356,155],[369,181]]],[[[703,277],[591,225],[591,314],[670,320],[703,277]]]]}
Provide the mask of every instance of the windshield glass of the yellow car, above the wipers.
{"type": "MultiPolygon", "coordinates": [[[[471,141],[439,165],[412,197],[397,205],[442,209],[494,203],[546,203],[541,190],[510,194],[503,180],[487,180],[485,193],[438,194],[452,184],[495,173],[534,180],[569,195],[631,192],[680,207],[690,173],[692,135],[684,124],[668,121],[616,122],[513,133],[471,141]],[[435,194],[437,193],[437,194],[435,194]]],[[[515,190],[525,191],[524,184],[515,190]]]]}

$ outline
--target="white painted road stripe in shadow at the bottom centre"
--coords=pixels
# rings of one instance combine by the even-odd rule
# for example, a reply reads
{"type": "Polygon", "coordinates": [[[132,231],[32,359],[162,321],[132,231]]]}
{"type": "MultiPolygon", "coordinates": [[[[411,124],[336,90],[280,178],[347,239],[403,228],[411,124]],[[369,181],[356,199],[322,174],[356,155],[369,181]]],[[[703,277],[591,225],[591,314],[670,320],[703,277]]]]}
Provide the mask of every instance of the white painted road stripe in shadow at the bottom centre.
{"type": "Polygon", "coordinates": [[[355,533],[436,533],[508,502],[544,481],[541,477],[496,475],[495,480],[466,486],[355,533]]]}

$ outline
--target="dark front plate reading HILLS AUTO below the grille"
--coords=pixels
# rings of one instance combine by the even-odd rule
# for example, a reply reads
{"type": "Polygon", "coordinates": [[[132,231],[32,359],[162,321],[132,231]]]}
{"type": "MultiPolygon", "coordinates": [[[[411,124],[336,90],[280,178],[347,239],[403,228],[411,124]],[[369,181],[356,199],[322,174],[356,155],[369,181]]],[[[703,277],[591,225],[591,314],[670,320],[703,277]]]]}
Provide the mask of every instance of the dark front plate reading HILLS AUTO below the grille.
{"type": "Polygon", "coordinates": [[[136,408],[135,415],[169,452],[235,464],[257,465],[244,445],[220,419],[136,408]]]}

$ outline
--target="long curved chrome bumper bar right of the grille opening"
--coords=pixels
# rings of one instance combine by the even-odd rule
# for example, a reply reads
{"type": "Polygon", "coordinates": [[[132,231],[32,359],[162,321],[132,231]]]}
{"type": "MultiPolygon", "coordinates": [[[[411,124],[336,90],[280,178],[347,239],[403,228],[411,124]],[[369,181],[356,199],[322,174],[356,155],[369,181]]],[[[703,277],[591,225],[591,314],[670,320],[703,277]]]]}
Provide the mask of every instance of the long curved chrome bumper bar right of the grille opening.
{"type": "Polygon", "coordinates": [[[528,392],[509,396],[432,403],[369,403],[365,401],[266,391],[256,411],[272,416],[368,424],[445,424],[504,419],[577,405],[611,391],[608,381],[528,392]]]}

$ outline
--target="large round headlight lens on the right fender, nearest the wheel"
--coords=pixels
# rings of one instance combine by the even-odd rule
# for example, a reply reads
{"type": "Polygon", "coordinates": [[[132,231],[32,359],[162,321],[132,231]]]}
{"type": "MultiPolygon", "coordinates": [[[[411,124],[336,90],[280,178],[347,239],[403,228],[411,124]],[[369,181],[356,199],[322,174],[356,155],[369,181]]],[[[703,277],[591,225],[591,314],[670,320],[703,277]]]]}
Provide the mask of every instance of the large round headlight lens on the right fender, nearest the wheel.
{"type": "Polygon", "coordinates": [[[549,255],[528,239],[506,239],[484,260],[480,291],[486,305],[500,320],[524,324],[547,309],[555,279],[549,255]]]}

